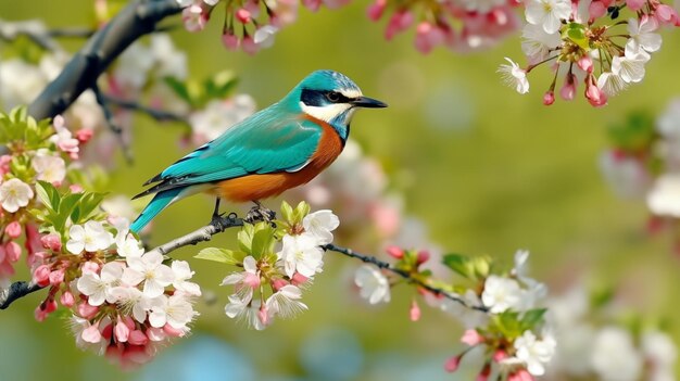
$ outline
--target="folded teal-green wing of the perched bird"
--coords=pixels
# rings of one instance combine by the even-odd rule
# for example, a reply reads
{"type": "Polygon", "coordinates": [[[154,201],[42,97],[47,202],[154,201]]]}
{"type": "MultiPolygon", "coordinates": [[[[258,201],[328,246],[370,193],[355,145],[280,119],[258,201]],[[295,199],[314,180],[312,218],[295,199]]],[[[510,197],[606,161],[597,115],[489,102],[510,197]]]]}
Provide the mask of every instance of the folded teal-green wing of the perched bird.
{"type": "Polygon", "coordinates": [[[147,181],[159,182],[139,198],[178,187],[302,168],[318,147],[323,129],[299,115],[257,113],[189,153],[147,181]]]}

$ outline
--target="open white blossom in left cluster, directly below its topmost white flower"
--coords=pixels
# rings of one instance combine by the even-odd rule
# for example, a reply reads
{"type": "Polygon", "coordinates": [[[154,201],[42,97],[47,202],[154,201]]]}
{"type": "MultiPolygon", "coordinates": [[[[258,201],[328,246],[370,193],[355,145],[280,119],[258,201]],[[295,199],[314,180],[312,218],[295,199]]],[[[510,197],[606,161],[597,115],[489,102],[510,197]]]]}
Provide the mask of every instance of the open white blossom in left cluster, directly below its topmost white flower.
{"type": "Polygon", "coordinates": [[[100,274],[85,272],[78,278],[78,291],[88,296],[87,303],[89,305],[100,306],[104,301],[115,302],[111,290],[121,283],[123,267],[124,265],[119,262],[110,262],[101,268],[100,274]]]}

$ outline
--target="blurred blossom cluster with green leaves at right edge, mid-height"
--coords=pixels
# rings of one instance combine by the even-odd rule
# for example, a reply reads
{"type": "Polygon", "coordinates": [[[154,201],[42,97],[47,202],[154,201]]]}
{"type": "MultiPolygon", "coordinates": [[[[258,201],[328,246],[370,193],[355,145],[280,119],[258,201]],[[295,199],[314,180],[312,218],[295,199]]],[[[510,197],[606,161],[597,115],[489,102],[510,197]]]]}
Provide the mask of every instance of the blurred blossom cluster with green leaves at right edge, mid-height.
{"type": "MultiPolygon", "coordinates": [[[[651,232],[680,220],[680,99],[669,102],[656,119],[633,113],[610,128],[612,147],[600,160],[614,191],[645,199],[651,232]]],[[[680,247],[680,237],[676,237],[680,247]]]]}

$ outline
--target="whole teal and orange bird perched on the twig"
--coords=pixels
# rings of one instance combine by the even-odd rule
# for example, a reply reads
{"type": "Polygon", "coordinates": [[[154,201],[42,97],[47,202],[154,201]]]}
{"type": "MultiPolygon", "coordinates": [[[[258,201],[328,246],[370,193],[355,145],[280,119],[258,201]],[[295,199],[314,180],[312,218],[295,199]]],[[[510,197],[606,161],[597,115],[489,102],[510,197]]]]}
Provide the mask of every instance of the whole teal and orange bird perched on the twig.
{"type": "Polygon", "coordinates": [[[347,76],[316,71],[284,99],[228,128],[216,139],[181,157],[143,186],[133,199],[155,194],[130,225],[139,232],[168,205],[210,192],[219,200],[254,202],[251,212],[268,212],[261,200],[312,180],[342,152],[354,112],[387,107],[364,97],[347,76]]]}

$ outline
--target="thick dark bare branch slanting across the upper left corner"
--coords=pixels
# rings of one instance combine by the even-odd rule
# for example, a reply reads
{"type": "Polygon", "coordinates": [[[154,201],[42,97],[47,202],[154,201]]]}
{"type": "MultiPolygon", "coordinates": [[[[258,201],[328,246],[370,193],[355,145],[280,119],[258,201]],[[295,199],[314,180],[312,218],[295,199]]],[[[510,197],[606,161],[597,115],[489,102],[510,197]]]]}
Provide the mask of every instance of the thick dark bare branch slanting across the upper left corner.
{"type": "Polygon", "coordinates": [[[64,112],[127,47],[156,29],[166,16],[181,12],[176,0],[136,0],[97,31],[28,107],[37,118],[64,112]]]}

